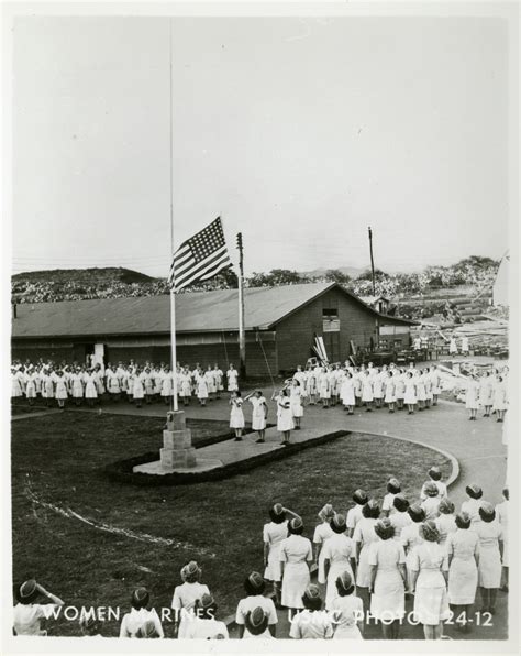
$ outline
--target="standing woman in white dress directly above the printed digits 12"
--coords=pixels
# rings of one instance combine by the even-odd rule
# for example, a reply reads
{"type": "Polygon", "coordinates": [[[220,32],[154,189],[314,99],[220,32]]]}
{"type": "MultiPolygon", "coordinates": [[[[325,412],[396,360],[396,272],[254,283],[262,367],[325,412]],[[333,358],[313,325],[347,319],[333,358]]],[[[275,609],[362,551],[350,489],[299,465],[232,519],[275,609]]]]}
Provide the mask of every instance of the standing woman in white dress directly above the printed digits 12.
{"type": "Polygon", "coordinates": [[[503,539],[501,524],[496,520],[494,505],[483,502],[479,509],[480,522],[477,522],[474,529],[479,543],[478,586],[481,592],[481,612],[489,612],[494,615],[496,611],[496,597],[501,586],[501,551],[499,543],[503,539]]]}

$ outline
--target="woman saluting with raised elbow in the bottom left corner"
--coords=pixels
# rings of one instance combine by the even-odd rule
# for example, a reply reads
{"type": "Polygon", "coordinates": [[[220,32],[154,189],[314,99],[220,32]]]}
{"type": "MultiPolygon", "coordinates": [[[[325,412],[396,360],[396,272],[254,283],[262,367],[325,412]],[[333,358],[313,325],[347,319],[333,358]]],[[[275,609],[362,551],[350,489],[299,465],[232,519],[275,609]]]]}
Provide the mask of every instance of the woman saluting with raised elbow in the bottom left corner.
{"type": "Polygon", "coordinates": [[[64,601],[52,594],[43,586],[30,579],[16,590],[18,603],[13,609],[15,635],[47,635],[42,630],[42,620],[52,616],[53,610],[64,605],[64,601]],[[44,603],[38,603],[38,600],[44,603]],[[44,600],[49,600],[45,603],[44,600]],[[51,602],[51,603],[49,603],[51,602]]]}

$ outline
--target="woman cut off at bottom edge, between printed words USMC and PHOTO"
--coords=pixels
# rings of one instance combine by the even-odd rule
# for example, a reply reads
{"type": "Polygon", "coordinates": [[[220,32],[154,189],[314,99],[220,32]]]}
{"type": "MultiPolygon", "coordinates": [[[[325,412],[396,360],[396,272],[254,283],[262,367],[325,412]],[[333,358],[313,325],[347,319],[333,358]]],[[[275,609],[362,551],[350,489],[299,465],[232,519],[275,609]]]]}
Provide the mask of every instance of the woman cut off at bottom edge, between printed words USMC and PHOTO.
{"type": "Polygon", "coordinates": [[[333,600],[332,621],[334,639],[362,639],[364,632],[364,604],[354,594],[354,578],[348,571],[336,577],[336,597],[333,600]]]}

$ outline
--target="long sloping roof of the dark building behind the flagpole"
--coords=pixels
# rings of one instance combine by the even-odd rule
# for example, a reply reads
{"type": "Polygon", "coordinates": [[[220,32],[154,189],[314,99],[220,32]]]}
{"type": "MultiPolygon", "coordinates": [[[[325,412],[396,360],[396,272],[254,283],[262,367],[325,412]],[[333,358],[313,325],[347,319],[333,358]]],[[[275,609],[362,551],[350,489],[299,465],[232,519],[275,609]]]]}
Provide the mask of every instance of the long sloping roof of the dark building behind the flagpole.
{"type": "MultiPolygon", "coordinates": [[[[270,328],[335,286],[335,283],[311,283],[244,289],[245,328],[270,328]]],[[[345,293],[365,306],[356,296],[345,293]]],[[[379,316],[372,308],[367,309],[379,316]]],[[[166,295],[24,303],[16,306],[16,317],[12,320],[13,338],[170,331],[170,303],[166,295]]],[[[237,330],[237,289],[179,294],[176,297],[177,332],[237,330]]],[[[395,318],[393,321],[401,322],[395,318]]]]}

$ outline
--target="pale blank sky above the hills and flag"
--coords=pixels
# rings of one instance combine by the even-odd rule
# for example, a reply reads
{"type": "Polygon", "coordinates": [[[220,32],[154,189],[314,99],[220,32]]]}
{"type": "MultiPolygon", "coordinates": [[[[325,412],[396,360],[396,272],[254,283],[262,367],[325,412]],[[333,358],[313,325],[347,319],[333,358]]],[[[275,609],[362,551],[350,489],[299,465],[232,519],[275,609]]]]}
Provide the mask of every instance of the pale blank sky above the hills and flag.
{"type": "MultiPolygon", "coordinates": [[[[499,19],[174,19],[176,245],[221,215],[246,272],[411,271],[508,248],[499,19]]],[[[18,19],[15,271],[166,275],[169,21],[18,19]]]]}

